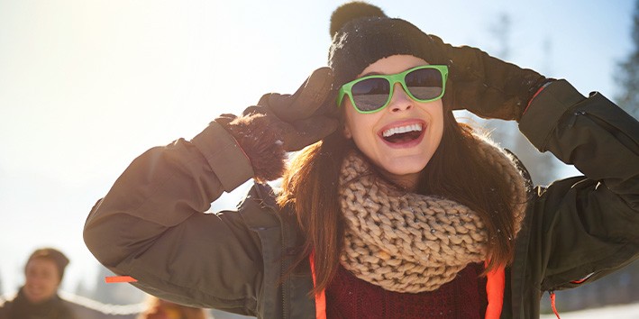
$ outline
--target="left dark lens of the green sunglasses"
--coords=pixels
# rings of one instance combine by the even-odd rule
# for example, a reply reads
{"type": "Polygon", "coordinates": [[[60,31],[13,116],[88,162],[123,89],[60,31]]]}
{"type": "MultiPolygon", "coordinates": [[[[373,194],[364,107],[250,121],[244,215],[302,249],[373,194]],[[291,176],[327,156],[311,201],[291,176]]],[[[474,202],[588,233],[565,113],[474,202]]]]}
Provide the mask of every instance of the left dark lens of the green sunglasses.
{"type": "Polygon", "coordinates": [[[385,78],[367,78],[351,87],[352,100],[362,112],[370,112],[386,105],[390,83],[385,78]]]}

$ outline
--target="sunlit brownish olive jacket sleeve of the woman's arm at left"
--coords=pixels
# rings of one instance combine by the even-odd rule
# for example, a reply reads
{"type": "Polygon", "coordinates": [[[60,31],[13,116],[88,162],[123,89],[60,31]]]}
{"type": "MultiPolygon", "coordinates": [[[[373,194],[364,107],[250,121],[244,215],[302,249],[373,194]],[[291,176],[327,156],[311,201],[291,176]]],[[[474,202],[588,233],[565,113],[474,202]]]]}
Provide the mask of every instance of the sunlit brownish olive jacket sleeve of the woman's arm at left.
{"type": "Polygon", "coordinates": [[[215,122],[192,141],[147,150],[91,210],[87,247],[155,296],[250,314],[243,309],[255,309],[259,239],[237,212],[203,212],[252,174],[233,137],[215,122]]]}

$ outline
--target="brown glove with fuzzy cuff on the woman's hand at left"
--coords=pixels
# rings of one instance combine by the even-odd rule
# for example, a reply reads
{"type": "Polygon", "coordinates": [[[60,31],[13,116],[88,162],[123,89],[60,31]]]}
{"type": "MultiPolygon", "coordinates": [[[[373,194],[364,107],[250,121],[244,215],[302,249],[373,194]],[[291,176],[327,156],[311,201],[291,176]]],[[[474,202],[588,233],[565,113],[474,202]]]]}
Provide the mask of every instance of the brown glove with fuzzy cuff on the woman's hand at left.
{"type": "Polygon", "coordinates": [[[222,114],[215,119],[231,132],[251,161],[258,180],[272,180],[284,170],[285,151],[301,150],[337,129],[327,116],[334,106],[330,96],[333,72],[318,68],[293,95],[269,93],[242,116],[222,114]]]}

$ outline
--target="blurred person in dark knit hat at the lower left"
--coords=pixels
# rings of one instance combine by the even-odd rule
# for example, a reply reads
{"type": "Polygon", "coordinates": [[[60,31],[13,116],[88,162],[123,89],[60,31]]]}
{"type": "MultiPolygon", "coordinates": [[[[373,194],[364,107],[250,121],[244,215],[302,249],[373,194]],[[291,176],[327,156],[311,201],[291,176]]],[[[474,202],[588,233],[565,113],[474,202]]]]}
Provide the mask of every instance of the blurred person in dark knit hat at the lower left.
{"type": "Polygon", "coordinates": [[[67,256],[53,248],[33,251],[24,266],[25,282],[17,296],[0,299],[0,319],[77,318],[58,296],[67,265],[67,256]]]}

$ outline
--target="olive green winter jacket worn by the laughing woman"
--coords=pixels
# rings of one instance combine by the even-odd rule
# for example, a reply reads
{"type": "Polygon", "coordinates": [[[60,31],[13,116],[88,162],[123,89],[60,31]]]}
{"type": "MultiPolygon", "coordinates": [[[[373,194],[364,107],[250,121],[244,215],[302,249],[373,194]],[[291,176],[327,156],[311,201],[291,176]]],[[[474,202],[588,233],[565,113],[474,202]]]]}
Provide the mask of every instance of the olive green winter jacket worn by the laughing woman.
{"type": "MultiPolygon", "coordinates": [[[[639,253],[639,123],[563,80],[529,106],[520,130],[584,176],[534,188],[502,318],[536,318],[544,291],[575,287],[639,253]]],[[[295,217],[256,184],[236,211],[203,214],[253,176],[233,137],[211,123],[192,141],[143,153],[93,207],[87,247],[153,295],[260,318],[313,318],[308,263],[280,280],[302,242],[295,217]]]]}

